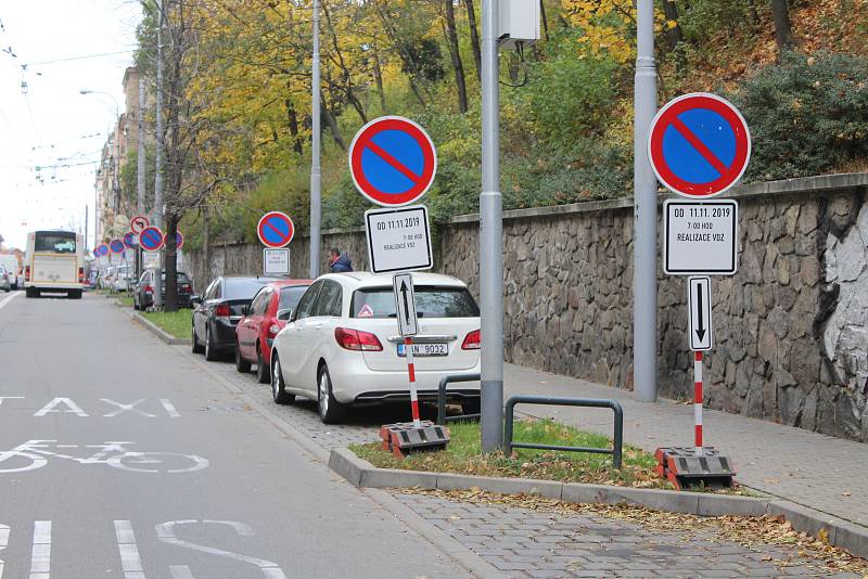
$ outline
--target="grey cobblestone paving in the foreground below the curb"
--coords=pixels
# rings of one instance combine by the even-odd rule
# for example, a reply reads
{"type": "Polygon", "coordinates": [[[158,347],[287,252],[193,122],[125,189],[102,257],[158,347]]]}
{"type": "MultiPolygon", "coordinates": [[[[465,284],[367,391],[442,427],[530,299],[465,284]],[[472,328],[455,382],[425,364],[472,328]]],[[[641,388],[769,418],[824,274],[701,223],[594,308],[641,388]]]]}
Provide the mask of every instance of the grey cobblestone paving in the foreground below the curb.
{"type": "Polygon", "coordinates": [[[560,514],[395,491],[505,577],[835,577],[794,546],[755,549],[711,530],[659,531],[595,513],[560,514]]]}

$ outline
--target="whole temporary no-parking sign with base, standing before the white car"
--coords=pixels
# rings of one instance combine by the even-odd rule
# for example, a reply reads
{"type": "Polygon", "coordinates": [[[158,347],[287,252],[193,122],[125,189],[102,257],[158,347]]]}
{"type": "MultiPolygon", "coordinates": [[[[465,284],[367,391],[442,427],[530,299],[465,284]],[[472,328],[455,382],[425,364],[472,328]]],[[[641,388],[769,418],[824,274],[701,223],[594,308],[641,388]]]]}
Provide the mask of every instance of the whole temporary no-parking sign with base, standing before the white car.
{"type": "MultiPolygon", "coordinates": [[[[424,205],[408,207],[427,192],[437,172],[437,153],[425,130],[404,117],[381,117],[365,125],[349,146],[349,172],[359,193],[384,209],[365,214],[368,256],[373,273],[394,273],[398,332],[404,337],[412,424],[380,429],[383,446],[404,452],[445,448],[446,428],[422,421],[416,388],[413,336],[418,333],[416,294],[410,271],[434,267],[431,230],[424,205]]],[[[400,348],[398,348],[400,356],[400,348]]]]}

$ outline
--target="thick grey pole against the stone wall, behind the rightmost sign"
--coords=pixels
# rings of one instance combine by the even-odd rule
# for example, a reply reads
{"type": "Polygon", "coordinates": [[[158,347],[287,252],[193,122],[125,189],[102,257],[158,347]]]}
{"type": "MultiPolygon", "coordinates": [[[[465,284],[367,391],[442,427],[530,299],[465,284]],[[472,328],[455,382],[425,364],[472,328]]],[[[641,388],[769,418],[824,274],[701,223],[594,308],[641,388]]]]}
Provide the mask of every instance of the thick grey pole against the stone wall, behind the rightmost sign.
{"type": "Polygon", "coordinates": [[[658,110],[654,3],[638,0],[634,121],[633,375],[636,398],[658,398],[658,181],[648,158],[648,131],[658,110]]]}

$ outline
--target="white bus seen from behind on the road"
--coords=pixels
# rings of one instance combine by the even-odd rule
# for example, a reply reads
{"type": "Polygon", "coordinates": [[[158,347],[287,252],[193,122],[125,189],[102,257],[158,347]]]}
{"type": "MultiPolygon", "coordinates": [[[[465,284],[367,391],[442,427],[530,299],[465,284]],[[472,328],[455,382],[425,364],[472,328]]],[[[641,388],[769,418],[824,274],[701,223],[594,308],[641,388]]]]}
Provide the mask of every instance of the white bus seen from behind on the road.
{"type": "Polygon", "coordinates": [[[85,243],[72,231],[34,231],[27,234],[24,290],[27,297],[42,292],[65,293],[80,299],[85,287],[85,243]]]}

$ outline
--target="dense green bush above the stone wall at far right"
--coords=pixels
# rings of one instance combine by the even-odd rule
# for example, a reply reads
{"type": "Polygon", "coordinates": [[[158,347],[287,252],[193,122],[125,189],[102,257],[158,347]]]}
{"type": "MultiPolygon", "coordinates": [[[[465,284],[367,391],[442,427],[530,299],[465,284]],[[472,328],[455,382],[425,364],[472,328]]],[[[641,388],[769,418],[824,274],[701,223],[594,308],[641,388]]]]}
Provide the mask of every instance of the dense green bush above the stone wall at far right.
{"type": "Polygon", "coordinates": [[[832,171],[868,157],[868,59],[788,54],[732,95],[753,138],[750,180],[832,171]]]}

